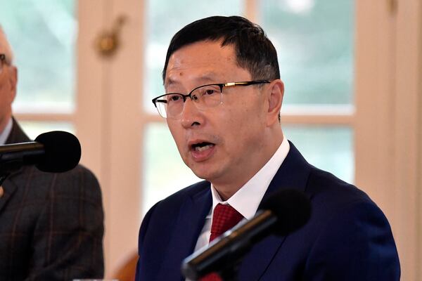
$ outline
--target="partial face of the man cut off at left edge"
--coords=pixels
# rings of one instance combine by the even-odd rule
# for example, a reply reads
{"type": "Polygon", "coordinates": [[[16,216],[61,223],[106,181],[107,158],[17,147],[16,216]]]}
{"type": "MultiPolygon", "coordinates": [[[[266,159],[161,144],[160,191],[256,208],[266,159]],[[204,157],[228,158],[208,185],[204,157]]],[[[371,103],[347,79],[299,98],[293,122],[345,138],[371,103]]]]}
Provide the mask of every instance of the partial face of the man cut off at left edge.
{"type": "MultiPolygon", "coordinates": [[[[0,53],[3,53],[0,44],[0,53]]],[[[0,132],[3,131],[11,117],[11,105],[15,98],[17,72],[11,65],[3,65],[0,72],[0,132]]]]}

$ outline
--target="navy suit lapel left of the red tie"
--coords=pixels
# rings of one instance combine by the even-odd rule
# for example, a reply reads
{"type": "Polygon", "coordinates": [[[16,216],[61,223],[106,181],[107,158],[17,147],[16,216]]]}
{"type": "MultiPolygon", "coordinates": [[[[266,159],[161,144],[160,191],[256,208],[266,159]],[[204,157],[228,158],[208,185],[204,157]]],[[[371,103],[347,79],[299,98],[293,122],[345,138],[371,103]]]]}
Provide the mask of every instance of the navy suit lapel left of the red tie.
{"type": "Polygon", "coordinates": [[[200,185],[203,186],[203,188],[197,187],[200,192],[186,197],[180,208],[167,254],[163,257],[162,264],[168,267],[160,270],[157,280],[174,280],[174,276],[180,276],[180,280],[182,280],[181,261],[193,253],[200,231],[204,226],[205,217],[212,206],[210,183],[202,182],[200,185]]]}

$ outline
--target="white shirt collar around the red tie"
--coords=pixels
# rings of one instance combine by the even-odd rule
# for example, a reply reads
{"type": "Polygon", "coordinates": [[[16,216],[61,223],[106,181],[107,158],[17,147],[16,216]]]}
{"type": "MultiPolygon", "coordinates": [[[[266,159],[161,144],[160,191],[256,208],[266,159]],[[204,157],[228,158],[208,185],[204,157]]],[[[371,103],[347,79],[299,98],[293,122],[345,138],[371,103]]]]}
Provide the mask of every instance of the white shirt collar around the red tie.
{"type": "Polygon", "coordinates": [[[271,183],[272,178],[276,175],[284,159],[286,159],[289,150],[290,145],[287,139],[283,137],[281,145],[269,161],[227,201],[222,201],[214,185],[211,184],[212,209],[209,216],[212,217],[215,206],[221,203],[234,207],[236,211],[247,219],[252,218],[269,187],[269,183],[271,183]]]}

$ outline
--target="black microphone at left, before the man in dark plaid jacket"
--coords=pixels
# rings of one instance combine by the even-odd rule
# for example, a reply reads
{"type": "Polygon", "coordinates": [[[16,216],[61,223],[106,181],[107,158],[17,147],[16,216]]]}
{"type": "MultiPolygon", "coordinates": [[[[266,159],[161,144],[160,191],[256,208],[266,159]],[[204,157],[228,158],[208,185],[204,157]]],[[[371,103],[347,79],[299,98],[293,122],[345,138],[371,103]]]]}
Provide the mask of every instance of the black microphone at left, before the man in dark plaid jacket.
{"type": "Polygon", "coordinates": [[[75,168],[81,159],[76,136],[65,131],[41,133],[35,141],[0,146],[0,172],[23,165],[35,165],[46,172],[60,173],[75,168]]]}

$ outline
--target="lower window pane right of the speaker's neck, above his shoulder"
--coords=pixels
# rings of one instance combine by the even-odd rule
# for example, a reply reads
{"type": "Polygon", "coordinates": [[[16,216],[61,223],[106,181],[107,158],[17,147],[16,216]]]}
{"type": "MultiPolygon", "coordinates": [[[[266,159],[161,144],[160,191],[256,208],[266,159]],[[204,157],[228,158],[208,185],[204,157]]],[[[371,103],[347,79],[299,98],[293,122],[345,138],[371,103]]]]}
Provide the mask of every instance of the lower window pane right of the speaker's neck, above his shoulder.
{"type": "Polygon", "coordinates": [[[346,126],[283,126],[307,162],[348,183],[354,181],[352,129],[346,126]]]}

